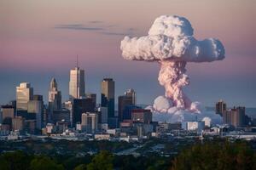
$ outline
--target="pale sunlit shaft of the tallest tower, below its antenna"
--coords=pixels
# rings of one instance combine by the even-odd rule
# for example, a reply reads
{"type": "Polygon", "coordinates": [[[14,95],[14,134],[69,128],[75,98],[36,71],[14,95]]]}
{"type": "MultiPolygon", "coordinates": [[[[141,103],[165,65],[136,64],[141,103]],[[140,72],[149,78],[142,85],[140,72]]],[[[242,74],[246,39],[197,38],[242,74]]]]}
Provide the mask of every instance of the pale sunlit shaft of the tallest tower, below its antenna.
{"type": "Polygon", "coordinates": [[[69,97],[79,99],[84,97],[84,70],[79,66],[70,71],[69,97]]]}

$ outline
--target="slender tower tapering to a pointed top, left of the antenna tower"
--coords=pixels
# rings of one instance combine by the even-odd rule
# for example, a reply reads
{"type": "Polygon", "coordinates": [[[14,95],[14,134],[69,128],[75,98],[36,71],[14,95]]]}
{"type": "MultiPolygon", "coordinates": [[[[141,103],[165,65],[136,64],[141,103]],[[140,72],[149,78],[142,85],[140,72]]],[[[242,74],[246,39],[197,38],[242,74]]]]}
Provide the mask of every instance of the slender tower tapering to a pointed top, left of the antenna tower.
{"type": "Polygon", "coordinates": [[[49,83],[49,111],[61,110],[61,91],[58,91],[58,86],[55,78],[52,78],[49,83]]]}

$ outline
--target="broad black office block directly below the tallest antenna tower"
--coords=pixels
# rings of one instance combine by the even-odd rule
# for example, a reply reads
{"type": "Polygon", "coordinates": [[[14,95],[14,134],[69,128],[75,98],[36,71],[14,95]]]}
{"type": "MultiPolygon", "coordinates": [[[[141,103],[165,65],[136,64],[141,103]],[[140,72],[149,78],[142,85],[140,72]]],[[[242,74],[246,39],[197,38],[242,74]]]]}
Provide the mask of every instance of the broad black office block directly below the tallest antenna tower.
{"type": "Polygon", "coordinates": [[[72,125],[75,127],[76,123],[81,122],[82,113],[94,111],[92,99],[73,99],[72,111],[72,125]]]}

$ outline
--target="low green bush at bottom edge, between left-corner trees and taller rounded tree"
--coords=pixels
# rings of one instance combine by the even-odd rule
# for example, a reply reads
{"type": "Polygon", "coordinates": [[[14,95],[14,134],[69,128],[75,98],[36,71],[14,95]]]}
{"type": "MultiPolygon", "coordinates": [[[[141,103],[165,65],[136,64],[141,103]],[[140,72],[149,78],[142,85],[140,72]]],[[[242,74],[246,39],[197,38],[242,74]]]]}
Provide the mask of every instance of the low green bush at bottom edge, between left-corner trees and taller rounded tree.
{"type": "Polygon", "coordinates": [[[62,165],[56,164],[55,161],[51,160],[47,156],[36,156],[30,163],[31,170],[62,170],[62,165]]]}

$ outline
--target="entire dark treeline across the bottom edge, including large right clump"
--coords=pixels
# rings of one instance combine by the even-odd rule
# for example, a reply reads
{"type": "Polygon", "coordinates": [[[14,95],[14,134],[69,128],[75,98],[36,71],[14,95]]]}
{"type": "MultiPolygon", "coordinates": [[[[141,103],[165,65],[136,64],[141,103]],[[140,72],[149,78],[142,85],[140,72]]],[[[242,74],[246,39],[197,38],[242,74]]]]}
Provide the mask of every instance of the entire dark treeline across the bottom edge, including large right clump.
{"type": "Polygon", "coordinates": [[[256,169],[256,152],[246,142],[207,142],[195,144],[177,157],[116,156],[102,150],[94,156],[43,156],[24,151],[0,156],[1,170],[189,170],[189,169],[256,169]]]}

